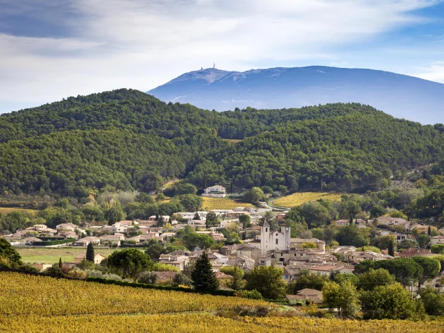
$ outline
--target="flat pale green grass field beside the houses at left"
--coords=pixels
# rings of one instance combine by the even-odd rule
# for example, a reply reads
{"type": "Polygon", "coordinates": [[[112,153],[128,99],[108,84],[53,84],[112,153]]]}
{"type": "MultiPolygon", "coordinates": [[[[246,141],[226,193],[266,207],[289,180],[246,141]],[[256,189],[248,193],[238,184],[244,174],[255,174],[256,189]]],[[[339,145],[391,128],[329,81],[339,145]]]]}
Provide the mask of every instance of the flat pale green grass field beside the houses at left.
{"type": "MultiPolygon", "coordinates": [[[[96,248],[96,253],[103,253],[108,257],[114,248],[96,248]]],[[[38,264],[54,264],[62,257],[62,262],[74,262],[74,257],[86,253],[86,248],[17,248],[25,263],[37,262],[38,264]]]]}

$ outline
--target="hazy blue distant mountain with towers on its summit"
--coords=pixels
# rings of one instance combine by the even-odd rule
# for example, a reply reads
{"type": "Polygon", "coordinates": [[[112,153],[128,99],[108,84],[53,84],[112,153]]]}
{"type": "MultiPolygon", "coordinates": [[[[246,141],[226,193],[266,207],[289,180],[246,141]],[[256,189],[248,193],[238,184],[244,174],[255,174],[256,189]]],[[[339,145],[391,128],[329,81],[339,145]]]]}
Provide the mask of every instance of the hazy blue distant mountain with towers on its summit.
{"type": "Polygon", "coordinates": [[[443,84],[372,69],[202,69],[183,74],[148,94],[166,102],[190,103],[217,111],[358,102],[398,118],[444,123],[443,84]]]}

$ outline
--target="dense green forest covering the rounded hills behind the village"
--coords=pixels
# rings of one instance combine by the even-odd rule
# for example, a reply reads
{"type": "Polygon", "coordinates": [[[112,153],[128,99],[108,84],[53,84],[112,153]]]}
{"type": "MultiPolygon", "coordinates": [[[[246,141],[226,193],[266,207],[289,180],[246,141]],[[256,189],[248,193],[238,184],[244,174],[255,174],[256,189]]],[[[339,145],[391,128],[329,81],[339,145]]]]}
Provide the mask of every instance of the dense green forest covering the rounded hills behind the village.
{"type": "Polygon", "coordinates": [[[199,189],[381,189],[392,173],[436,162],[442,132],[358,103],[215,112],[120,89],[2,114],[0,189],[78,196],[171,178],[199,189]]]}

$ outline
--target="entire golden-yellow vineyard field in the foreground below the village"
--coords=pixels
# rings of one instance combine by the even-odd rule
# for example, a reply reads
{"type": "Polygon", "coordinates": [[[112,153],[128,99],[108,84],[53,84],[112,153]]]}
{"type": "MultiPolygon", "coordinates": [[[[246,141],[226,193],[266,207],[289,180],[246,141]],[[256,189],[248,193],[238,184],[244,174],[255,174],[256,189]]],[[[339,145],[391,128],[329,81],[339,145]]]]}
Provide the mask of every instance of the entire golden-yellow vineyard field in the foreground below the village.
{"type": "MultiPolygon", "coordinates": [[[[438,333],[431,321],[342,321],[300,316],[221,318],[218,309],[266,302],[0,273],[0,332],[438,333]]],[[[274,306],[275,307],[275,306],[274,306]]]]}

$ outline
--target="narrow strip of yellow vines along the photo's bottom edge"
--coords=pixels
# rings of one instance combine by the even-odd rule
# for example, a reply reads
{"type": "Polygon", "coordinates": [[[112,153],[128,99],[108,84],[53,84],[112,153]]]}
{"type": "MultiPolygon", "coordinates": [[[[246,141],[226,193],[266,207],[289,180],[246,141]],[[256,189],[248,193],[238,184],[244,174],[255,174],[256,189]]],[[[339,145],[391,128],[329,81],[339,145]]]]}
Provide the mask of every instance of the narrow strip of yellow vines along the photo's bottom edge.
{"type": "Polygon", "coordinates": [[[406,321],[341,321],[301,317],[220,318],[211,314],[152,316],[0,317],[0,332],[304,332],[304,333],[442,333],[443,323],[406,321]]]}

